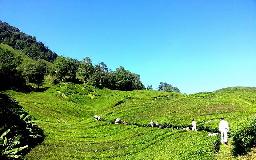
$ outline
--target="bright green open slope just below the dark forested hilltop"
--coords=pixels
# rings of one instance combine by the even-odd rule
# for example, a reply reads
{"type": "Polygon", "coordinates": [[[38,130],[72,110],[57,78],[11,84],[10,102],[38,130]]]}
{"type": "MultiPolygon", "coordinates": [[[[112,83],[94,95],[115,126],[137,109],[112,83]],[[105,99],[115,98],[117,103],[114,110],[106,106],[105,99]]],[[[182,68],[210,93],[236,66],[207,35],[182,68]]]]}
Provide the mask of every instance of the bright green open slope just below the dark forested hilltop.
{"type": "MultiPolygon", "coordinates": [[[[16,50],[16,49],[13,49],[12,47],[10,47],[9,45],[7,44],[2,44],[0,43],[0,48],[1,49],[5,49],[5,50],[9,50],[11,51],[13,54],[14,54],[14,57],[17,57],[17,56],[21,56],[21,59],[23,60],[22,63],[35,63],[35,60],[29,58],[27,55],[25,55],[22,51],[19,51],[19,50],[16,50]]],[[[48,62],[46,60],[44,60],[46,65],[48,67],[52,66],[53,64],[51,62],[48,62]]]]}

